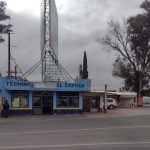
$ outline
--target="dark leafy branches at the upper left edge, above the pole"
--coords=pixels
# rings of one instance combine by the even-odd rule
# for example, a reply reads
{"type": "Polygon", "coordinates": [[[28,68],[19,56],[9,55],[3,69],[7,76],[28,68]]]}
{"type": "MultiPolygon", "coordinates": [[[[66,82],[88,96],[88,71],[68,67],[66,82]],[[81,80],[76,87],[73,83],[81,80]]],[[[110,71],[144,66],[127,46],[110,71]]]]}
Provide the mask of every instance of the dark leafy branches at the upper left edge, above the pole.
{"type": "MultiPolygon", "coordinates": [[[[4,1],[0,1],[0,22],[5,21],[7,19],[10,19],[10,16],[5,14],[6,10],[6,3],[4,1]]],[[[6,34],[11,32],[11,24],[5,25],[3,23],[0,24],[0,43],[4,42],[4,38],[2,37],[2,34],[6,34]]]]}

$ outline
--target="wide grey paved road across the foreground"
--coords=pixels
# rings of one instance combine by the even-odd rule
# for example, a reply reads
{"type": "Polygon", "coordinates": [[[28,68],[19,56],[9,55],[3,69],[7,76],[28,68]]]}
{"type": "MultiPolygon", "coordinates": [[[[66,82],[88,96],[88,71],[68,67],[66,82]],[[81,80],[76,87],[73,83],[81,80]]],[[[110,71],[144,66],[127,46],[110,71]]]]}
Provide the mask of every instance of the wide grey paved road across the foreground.
{"type": "Polygon", "coordinates": [[[149,111],[0,118],[0,150],[149,150],[149,111]]]}

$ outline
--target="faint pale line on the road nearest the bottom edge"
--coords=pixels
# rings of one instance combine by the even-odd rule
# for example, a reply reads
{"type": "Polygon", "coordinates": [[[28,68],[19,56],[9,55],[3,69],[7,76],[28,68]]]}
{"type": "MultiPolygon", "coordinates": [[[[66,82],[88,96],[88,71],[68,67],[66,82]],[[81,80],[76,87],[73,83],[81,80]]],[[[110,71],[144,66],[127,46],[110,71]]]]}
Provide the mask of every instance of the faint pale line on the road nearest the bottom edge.
{"type": "Polygon", "coordinates": [[[84,144],[61,144],[61,145],[18,145],[18,146],[3,146],[0,149],[29,149],[29,148],[58,148],[58,147],[87,147],[87,146],[115,146],[115,145],[149,145],[150,141],[141,142],[101,142],[101,143],[84,143],[84,144]]]}

